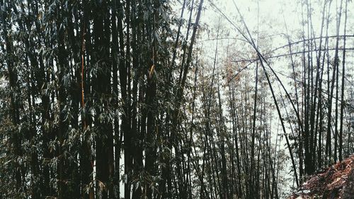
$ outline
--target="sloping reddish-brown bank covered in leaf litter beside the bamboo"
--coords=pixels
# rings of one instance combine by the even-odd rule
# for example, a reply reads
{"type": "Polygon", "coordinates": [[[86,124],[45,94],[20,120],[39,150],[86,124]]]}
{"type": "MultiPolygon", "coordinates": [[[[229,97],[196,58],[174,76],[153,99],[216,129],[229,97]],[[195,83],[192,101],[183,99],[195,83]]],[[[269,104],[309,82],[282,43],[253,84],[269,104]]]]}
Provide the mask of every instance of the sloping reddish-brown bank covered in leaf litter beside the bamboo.
{"type": "Polygon", "coordinates": [[[354,155],[305,181],[288,199],[354,198],[354,155]]]}

